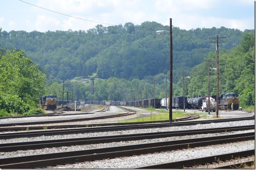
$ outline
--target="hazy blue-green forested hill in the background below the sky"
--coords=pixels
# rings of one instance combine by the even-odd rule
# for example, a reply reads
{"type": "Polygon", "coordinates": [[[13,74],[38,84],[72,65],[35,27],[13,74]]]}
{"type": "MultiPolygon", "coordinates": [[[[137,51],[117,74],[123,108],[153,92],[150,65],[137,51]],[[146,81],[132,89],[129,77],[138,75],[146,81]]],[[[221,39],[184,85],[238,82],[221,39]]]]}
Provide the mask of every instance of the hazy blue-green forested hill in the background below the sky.
{"type": "MultiPolygon", "coordinates": [[[[0,46],[24,49],[25,55],[47,74],[48,84],[92,73],[103,79],[142,80],[159,73],[169,75],[169,33],[157,35],[157,30],[168,31],[169,26],[144,22],[97,25],[88,31],[1,31],[0,46]]],[[[213,27],[186,31],[173,27],[173,81],[181,77],[178,70],[191,70],[209,51],[215,51],[208,37],[227,37],[221,49],[231,49],[248,32],[254,30],[213,27]]]]}

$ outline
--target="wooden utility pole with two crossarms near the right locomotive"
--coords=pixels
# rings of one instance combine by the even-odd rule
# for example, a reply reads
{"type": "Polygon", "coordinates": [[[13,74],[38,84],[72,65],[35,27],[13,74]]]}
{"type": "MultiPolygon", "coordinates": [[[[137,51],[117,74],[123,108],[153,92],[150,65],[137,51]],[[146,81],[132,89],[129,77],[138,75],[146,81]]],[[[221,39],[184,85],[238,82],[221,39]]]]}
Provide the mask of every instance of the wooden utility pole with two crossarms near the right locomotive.
{"type": "Polygon", "coordinates": [[[217,35],[217,37],[209,37],[209,39],[216,39],[216,41],[213,42],[209,42],[209,43],[216,43],[216,63],[217,63],[217,82],[216,82],[216,86],[217,86],[217,91],[216,91],[216,102],[217,102],[217,106],[216,106],[216,117],[219,117],[219,45],[221,45],[224,42],[221,42],[219,44],[219,39],[225,39],[226,37],[219,37],[217,35]]]}

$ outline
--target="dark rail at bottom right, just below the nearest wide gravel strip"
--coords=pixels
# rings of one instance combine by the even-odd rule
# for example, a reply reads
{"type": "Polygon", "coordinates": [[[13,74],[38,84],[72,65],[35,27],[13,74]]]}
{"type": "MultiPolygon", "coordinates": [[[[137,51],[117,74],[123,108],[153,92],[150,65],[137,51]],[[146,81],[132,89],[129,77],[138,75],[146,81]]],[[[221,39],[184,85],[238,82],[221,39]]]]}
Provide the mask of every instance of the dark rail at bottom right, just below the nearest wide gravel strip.
{"type": "Polygon", "coordinates": [[[217,160],[233,159],[235,157],[242,157],[242,156],[248,156],[253,154],[255,154],[255,149],[228,153],[228,154],[214,155],[210,157],[189,159],[184,161],[162,163],[158,165],[144,166],[144,167],[139,167],[138,169],[184,168],[186,166],[194,166],[194,165],[200,165],[204,163],[217,162],[217,160]]]}

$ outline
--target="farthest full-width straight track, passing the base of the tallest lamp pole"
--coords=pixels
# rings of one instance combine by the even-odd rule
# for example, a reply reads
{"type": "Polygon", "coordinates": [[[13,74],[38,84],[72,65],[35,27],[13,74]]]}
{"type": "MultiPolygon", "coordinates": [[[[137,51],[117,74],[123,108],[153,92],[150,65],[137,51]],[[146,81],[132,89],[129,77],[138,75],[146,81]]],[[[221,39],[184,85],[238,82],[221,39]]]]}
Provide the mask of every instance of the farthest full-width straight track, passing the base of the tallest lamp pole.
{"type": "Polygon", "coordinates": [[[221,119],[221,120],[205,120],[205,121],[191,121],[191,122],[133,122],[133,123],[114,123],[114,124],[83,124],[83,125],[57,125],[57,126],[47,126],[47,129],[59,129],[59,130],[43,130],[45,126],[24,126],[24,127],[8,127],[0,128],[0,131],[26,131],[19,133],[2,133],[0,134],[0,139],[5,136],[9,138],[14,137],[23,137],[26,134],[31,137],[44,135],[59,135],[59,134],[71,134],[71,133],[86,133],[90,131],[111,131],[111,130],[127,130],[127,129],[138,129],[138,128],[159,128],[166,126],[186,126],[186,125],[195,125],[195,124],[210,124],[210,123],[219,123],[219,122],[229,122],[229,121],[242,121],[242,120],[254,120],[255,117],[244,117],[244,118],[231,118],[231,119],[221,119]],[[111,126],[111,127],[104,127],[111,126]],[[85,128],[86,127],[86,128],[85,128]],[[66,128],[73,128],[67,129],[66,128]],[[81,128],[81,129],[76,129],[81,128]],[[27,130],[41,130],[41,131],[27,131],[27,130]]]}

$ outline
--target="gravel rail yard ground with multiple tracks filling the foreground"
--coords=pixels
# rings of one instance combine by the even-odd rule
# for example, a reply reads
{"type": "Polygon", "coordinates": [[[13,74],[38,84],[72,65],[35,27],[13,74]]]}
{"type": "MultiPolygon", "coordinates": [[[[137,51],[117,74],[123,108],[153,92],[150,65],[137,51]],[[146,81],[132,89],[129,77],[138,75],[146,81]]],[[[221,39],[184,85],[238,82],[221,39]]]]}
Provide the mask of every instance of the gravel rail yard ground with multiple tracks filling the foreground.
{"type": "Polygon", "coordinates": [[[0,168],[216,168],[254,163],[254,113],[222,110],[219,118],[214,113],[202,118],[199,110],[186,112],[172,123],[119,123],[159,114],[124,106],[1,118],[0,168]]]}

